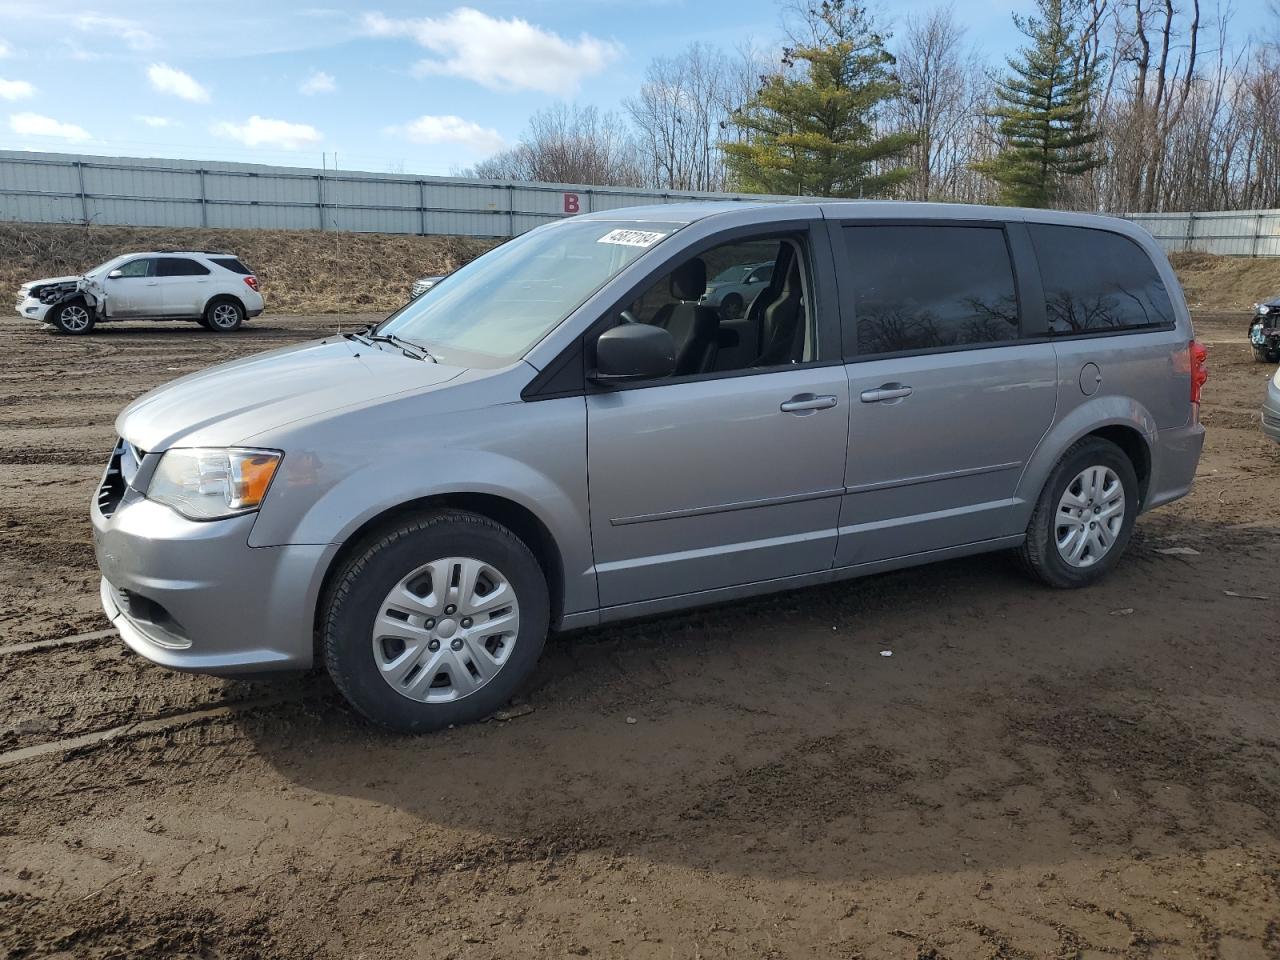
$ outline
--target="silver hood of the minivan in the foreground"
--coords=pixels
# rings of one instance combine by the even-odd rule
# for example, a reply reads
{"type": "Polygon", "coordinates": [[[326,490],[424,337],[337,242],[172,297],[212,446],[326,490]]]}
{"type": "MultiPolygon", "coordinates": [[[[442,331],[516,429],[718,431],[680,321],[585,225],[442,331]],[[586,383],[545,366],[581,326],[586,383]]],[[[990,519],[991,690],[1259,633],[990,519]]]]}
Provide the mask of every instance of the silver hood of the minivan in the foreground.
{"type": "Polygon", "coordinates": [[[448,383],[463,367],[343,338],[202,370],[133,401],[116,433],[141,451],[228,447],[296,420],[448,383]]]}

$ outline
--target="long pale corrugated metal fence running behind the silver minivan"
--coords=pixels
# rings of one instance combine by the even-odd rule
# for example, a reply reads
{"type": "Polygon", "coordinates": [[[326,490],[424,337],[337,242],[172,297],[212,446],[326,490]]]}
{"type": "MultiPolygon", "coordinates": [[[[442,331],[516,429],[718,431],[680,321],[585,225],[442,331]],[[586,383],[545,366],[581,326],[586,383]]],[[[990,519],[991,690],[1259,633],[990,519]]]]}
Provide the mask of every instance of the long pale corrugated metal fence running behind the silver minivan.
{"type": "MultiPolygon", "coordinates": [[[[748,193],[0,150],[0,220],[513,237],[594,210],[748,193]]],[[[1132,214],[1166,251],[1280,256],[1280,210],[1132,214]]]]}

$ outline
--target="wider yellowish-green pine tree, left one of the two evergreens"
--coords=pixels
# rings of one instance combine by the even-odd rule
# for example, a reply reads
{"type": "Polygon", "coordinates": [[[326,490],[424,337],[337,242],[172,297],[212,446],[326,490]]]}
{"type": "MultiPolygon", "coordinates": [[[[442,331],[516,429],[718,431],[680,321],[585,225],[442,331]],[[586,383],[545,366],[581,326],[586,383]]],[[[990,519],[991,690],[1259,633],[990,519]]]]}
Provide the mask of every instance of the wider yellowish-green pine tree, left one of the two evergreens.
{"type": "Polygon", "coordinates": [[[908,179],[891,164],[914,133],[876,136],[881,104],[897,93],[884,49],[864,6],[824,0],[806,12],[812,38],[788,47],[783,69],[762,78],[756,95],[733,113],[746,133],[724,142],[736,189],[823,197],[881,193],[908,179]],[[888,166],[888,169],[884,169],[888,166]]]}

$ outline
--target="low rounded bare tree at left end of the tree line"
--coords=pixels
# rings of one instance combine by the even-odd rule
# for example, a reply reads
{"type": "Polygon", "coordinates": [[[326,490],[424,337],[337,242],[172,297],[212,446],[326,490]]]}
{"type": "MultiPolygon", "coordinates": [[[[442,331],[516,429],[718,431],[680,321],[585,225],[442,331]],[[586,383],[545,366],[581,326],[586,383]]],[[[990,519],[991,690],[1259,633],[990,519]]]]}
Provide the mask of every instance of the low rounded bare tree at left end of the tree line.
{"type": "Polygon", "coordinates": [[[520,142],[468,175],[495,180],[637,187],[643,173],[626,122],[595,106],[557,104],[529,119],[520,142]]]}

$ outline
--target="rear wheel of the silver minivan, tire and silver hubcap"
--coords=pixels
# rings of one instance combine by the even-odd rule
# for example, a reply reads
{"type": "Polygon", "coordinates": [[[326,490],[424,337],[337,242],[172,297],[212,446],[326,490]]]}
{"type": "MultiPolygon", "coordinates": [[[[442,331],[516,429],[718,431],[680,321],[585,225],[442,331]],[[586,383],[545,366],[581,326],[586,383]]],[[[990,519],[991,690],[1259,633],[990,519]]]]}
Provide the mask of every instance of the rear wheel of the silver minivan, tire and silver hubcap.
{"type": "Polygon", "coordinates": [[[1138,475],[1125,452],[1101,436],[1085,436],[1044,484],[1015,554],[1020,566],[1056,588],[1101,580],[1129,544],[1138,497],[1138,475]]]}

